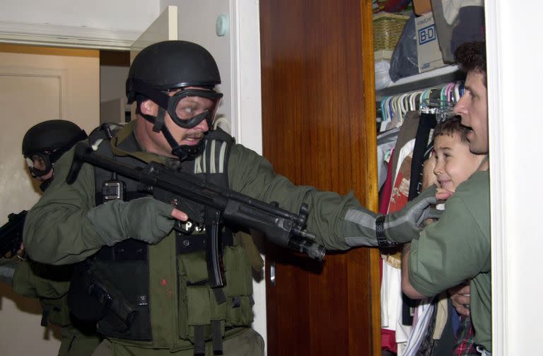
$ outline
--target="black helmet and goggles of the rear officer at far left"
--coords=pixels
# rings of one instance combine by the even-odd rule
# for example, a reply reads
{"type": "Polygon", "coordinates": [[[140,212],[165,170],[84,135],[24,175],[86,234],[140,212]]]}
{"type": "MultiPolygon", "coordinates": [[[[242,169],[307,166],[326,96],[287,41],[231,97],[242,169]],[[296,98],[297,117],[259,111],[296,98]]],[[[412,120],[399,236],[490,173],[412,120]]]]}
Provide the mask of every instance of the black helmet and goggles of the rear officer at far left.
{"type": "Polygon", "coordinates": [[[23,138],[23,155],[33,177],[41,177],[78,141],[87,138],[71,121],[48,120],[32,126],[23,138]]]}

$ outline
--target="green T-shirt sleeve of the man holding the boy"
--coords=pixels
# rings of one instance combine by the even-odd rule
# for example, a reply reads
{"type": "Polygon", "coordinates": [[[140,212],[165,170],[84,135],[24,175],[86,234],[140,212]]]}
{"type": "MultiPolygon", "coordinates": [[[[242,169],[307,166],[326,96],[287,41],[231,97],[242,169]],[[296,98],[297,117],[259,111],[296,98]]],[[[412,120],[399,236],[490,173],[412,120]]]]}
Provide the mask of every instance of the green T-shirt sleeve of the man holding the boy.
{"type": "Polygon", "coordinates": [[[409,281],[431,297],[490,271],[488,172],[476,172],[445,203],[438,222],[411,242],[409,281]]]}

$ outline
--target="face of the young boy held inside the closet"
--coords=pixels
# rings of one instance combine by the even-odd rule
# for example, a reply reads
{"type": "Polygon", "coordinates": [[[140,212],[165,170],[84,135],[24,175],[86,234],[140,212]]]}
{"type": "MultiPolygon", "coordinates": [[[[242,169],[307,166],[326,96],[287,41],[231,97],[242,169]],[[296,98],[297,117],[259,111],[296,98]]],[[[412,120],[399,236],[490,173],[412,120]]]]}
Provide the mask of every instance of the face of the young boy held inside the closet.
{"type": "Polygon", "coordinates": [[[469,178],[481,164],[484,155],[475,155],[469,151],[469,144],[462,142],[458,133],[452,136],[441,135],[434,138],[433,155],[436,157],[436,174],[438,184],[448,191],[469,178]]]}

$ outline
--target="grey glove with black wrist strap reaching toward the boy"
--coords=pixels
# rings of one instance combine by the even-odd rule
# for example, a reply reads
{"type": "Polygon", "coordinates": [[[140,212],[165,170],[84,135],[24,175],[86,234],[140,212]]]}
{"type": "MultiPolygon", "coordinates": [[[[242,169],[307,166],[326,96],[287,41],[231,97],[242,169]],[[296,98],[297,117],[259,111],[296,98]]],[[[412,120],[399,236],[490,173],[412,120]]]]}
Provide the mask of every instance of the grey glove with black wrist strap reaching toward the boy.
{"type": "Polygon", "coordinates": [[[347,211],[343,232],[350,247],[391,247],[397,243],[410,242],[419,237],[421,224],[428,218],[438,218],[442,211],[433,208],[436,203],[436,187],[425,189],[402,210],[388,215],[379,215],[366,209],[347,211]],[[383,241],[378,242],[378,236],[383,241]]]}

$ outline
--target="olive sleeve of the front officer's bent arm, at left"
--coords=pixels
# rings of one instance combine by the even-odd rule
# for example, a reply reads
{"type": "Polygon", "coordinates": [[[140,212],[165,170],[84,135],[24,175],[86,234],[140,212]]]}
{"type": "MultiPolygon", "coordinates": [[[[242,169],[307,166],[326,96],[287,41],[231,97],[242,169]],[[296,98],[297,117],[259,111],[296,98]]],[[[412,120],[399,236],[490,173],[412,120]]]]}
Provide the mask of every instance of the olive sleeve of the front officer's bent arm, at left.
{"type": "Polygon", "coordinates": [[[55,163],[51,186],[27,214],[23,243],[35,261],[75,263],[104,244],[87,218],[95,204],[93,168],[83,164],[74,184],[66,183],[73,156],[72,149],[55,163]]]}

